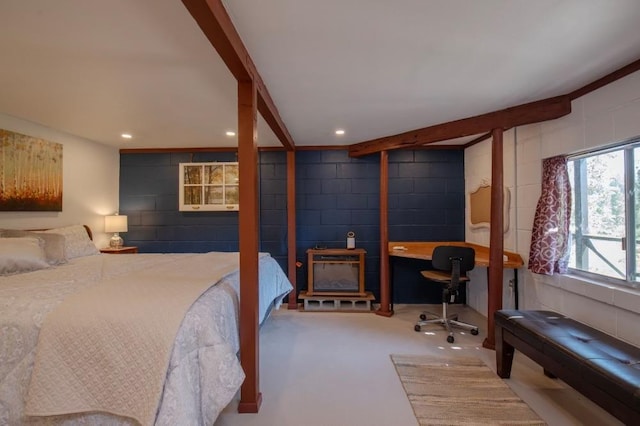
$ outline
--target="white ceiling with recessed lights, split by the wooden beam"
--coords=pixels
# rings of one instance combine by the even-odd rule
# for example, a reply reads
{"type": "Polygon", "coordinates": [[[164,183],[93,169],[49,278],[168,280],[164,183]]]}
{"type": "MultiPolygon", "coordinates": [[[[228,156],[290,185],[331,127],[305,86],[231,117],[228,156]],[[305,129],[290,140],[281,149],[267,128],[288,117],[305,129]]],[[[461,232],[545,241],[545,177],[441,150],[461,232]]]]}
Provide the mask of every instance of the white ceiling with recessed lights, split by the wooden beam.
{"type": "MultiPolygon", "coordinates": [[[[223,3],[296,146],[561,95],[640,58],[638,0],[223,3]]],[[[235,80],[180,0],[2,0],[0,58],[2,113],[121,148],[236,144],[235,80]]],[[[259,144],[280,146],[263,120],[259,144]]]]}

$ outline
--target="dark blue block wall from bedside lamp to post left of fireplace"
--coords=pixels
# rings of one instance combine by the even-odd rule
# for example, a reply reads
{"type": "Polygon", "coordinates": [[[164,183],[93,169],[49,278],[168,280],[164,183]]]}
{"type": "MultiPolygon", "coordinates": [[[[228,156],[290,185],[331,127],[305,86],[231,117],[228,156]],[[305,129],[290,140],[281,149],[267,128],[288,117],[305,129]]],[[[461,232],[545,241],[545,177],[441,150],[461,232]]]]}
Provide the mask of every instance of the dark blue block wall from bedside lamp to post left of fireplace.
{"type": "MultiPolygon", "coordinates": [[[[127,244],[141,253],[238,250],[238,212],[178,211],[180,163],[237,161],[235,152],[120,155],[120,213],[129,216],[127,244]]],[[[287,265],[286,153],[260,161],[260,250],[287,265]]]]}

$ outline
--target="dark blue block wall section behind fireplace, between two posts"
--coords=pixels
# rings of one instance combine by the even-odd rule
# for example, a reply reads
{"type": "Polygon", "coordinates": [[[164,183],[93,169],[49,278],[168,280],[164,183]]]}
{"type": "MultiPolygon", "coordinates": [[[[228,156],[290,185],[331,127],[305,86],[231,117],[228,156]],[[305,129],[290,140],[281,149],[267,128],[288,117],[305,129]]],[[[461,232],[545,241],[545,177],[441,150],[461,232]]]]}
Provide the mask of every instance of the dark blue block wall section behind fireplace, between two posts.
{"type": "Polygon", "coordinates": [[[365,289],[380,289],[380,160],[350,158],[346,150],[296,153],[297,282],[307,288],[306,250],[346,248],[347,232],[367,251],[365,289]]]}

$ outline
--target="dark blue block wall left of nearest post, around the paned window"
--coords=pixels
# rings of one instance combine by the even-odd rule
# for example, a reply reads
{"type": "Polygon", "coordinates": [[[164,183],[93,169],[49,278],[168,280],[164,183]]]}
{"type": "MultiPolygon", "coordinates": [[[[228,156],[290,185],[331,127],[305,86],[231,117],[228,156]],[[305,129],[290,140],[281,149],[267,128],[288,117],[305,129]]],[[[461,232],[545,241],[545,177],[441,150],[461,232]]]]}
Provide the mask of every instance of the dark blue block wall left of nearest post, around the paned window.
{"type": "Polygon", "coordinates": [[[178,165],[237,161],[233,152],[120,155],[120,213],[128,216],[125,244],[142,253],[238,250],[237,212],[178,211],[178,165]]]}

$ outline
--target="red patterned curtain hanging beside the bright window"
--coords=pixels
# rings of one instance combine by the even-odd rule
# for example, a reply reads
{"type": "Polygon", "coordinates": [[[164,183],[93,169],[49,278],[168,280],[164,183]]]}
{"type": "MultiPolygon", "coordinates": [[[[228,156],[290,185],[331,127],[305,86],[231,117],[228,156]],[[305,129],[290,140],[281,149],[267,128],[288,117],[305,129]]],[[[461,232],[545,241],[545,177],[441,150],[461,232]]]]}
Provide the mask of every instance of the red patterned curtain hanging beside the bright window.
{"type": "Polygon", "coordinates": [[[529,250],[529,269],[536,274],[567,272],[571,186],[567,159],[563,156],[542,162],[542,193],[536,207],[529,250]]]}

